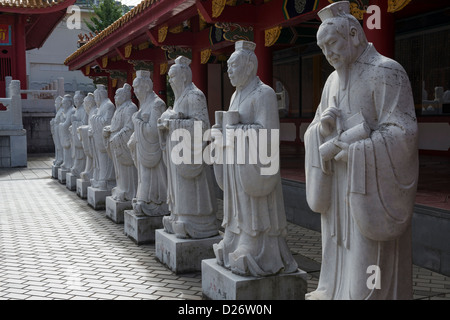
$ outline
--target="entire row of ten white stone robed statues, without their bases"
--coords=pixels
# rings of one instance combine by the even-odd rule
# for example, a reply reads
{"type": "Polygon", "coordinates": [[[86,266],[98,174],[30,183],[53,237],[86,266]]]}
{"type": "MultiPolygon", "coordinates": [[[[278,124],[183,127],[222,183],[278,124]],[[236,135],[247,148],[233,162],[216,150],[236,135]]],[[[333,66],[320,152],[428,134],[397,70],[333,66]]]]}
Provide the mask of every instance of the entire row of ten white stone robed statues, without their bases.
{"type": "MultiPolygon", "coordinates": [[[[347,1],[326,7],[319,17],[318,45],[336,71],[305,133],[307,201],[322,216],[323,246],[319,285],[307,298],[409,299],[417,123],[408,77],[367,42],[347,1]],[[377,271],[373,286],[371,268],[377,271]]],[[[153,92],[147,71],[138,71],[133,82],[139,110],[128,84],[117,90],[116,107],[103,86],[84,100],[77,92],[75,106],[70,96],[56,99],[55,163],[70,166],[96,188],[112,188],[112,197],[132,201],[137,215],[164,216],[165,232],[182,239],[219,233],[214,174],[224,194],[223,239],[213,245],[217,264],[243,276],[297,272],[286,243],[279,168],[262,174],[269,164],[261,159],[230,161],[243,150],[251,159],[251,150],[272,150],[277,143],[270,139],[278,137],[277,98],[256,75],[254,50],[253,42],[236,42],[228,60],[236,91],[212,127],[190,60],[181,56],[168,74],[173,108],[153,92]],[[241,149],[231,131],[244,133],[241,149]],[[194,139],[180,149],[185,133],[207,132],[210,144],[194,139]],[[214,157],[220,153],[227,160],[213,162],[213,171],[205,161],[174,161],[180,153],[196,159],[211,146],[214,157]]]]}

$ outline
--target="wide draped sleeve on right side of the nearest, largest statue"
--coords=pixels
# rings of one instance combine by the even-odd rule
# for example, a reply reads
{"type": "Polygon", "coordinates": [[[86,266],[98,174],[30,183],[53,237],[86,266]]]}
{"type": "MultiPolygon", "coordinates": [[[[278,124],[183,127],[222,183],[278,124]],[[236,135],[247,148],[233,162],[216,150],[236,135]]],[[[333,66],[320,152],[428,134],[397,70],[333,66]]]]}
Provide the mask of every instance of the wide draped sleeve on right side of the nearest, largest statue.
{"type": "Polygon", "coordinates": [[[378,68],[373,101],[378,128],[349,146],[350,210],[361,233],[376,241],[399,237],[410,225],[418,179],[417,122],[403,68],[378,68]]]}

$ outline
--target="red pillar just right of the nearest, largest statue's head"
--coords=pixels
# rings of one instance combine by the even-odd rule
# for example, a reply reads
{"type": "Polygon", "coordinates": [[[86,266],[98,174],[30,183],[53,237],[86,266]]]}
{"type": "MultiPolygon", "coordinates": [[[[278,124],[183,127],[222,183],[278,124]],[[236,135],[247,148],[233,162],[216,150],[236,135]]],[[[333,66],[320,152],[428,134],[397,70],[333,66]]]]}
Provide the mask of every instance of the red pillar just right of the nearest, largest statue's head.
{"type": "Polygon", "coordinates": [[[387,11],[388,0],[370,0],[370,5],[376,5],[380,8],[380,29],[369,29],[370,24],[367,20],[371,16],[377,19],[376,11],[372,14],[364,14],[364,32],[367,40],[372,42],[375,49],[382,55],[394,58],[395,54],[395,18],[394,14],[387,11]]]}

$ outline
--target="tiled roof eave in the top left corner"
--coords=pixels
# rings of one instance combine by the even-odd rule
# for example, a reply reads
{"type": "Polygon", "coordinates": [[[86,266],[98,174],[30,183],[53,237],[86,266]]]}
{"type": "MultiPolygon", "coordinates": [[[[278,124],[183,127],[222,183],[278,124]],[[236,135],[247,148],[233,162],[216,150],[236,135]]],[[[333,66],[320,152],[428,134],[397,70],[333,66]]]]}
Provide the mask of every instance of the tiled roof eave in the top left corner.
{"type": "Polygon", "coordinates": [[[76,0],[0,0],[0,11],[21,14],[52,13],[67,9],[76,0]]]}

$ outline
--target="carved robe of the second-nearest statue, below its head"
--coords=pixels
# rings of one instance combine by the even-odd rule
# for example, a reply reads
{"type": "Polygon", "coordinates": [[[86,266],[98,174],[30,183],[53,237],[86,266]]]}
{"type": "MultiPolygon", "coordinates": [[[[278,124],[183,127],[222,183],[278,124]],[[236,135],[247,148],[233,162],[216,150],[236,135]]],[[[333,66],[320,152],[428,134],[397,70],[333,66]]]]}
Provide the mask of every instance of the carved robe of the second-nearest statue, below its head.
{"type": "MultiPolygon", "coordinates": [[[[271,130],[280,127],[273,89],[255,77],[239,95],[233,94],[229,111],[239,112],[236,129],[254,129],[257,134],[261,129],[267,129],[267,150],[270,152],[271,130]]],[[[242,152],[238,148],[238,139],[234,149],[225,148],[224,164],[214,164],[216,180],[224,191],[222,226],[225,228],[224,239],[214,249],[216,258],[219,264],[243,275],[295,272],[298,266],[285,240],[287,224],[279,167],[275,174],[262,175],[261,168],[267,166],[262,166],[259,161],[251,164],[246,160],[245,164],[238,164],[236,153],[242,152]],[[227,164],[228,152],[233,153],[234,164],[227,164]]],[[[249,142],[244,140],[246,158],[249,159],[249,142]]]]}

